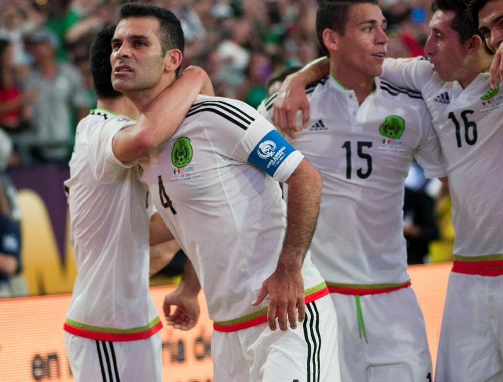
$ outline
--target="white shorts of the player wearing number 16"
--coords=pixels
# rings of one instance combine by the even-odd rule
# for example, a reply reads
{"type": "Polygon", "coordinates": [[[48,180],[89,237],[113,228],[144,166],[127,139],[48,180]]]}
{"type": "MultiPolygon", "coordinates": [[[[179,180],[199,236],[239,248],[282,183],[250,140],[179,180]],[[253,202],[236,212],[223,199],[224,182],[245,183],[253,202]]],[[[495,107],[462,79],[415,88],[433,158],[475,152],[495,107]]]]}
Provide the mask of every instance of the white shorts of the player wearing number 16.
{"type": "Polygon", "coordinates": [[[435,380],[503,381],[503,276],[451,273],[435,380]]]}

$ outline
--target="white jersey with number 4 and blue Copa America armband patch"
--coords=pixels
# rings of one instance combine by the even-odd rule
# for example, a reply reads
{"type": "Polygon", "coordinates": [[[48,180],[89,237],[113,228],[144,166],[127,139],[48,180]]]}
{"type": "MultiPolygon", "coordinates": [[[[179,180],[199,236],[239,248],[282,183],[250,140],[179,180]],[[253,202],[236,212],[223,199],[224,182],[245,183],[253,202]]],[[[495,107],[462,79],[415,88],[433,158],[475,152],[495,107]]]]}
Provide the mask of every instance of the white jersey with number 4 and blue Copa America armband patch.
{"type": "MultiPolygon", "coordinates": [[[[251,302],[276,269],[286,207],[278,182],[256,165],[284,181],[302,159],[250,106],[199,96],[158,155],[142,163],[141,179],[192,261],[211,319],[253,315],[251,302]]],[[[306,290],[323,283],[309,254],[302,270],[306,290]]]]}

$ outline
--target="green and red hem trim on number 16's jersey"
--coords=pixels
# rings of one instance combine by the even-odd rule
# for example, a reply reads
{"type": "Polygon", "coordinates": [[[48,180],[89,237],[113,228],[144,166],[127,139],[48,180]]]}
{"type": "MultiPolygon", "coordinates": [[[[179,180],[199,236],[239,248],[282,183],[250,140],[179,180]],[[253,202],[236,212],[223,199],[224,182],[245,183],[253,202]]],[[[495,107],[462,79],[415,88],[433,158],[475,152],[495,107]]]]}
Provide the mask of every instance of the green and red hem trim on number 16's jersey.
{"type": "Polygon", "coordinates": [[[503,276],[503,254],[484,256],[454,256],[453,273],[477,276],[503,276]]]}

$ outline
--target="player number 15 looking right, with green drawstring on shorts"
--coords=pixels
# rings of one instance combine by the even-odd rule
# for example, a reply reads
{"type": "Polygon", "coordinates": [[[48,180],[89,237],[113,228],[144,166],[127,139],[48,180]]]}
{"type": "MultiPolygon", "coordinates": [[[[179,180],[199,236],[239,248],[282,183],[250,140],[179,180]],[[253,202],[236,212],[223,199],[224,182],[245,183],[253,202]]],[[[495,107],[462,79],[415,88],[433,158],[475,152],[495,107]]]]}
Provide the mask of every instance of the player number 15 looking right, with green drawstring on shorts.
{"type": "Polygon", "coordinates": [[[292,144],[323,176],[311,253],[337,312],[341,377],[431,380],[402,208],[414,157],[443,174],[438,139],[421,95],[378,77],[389,40],[376,1],[321,2],[316,29],[330,75],[305,90],[311,118],[292,144]]]}

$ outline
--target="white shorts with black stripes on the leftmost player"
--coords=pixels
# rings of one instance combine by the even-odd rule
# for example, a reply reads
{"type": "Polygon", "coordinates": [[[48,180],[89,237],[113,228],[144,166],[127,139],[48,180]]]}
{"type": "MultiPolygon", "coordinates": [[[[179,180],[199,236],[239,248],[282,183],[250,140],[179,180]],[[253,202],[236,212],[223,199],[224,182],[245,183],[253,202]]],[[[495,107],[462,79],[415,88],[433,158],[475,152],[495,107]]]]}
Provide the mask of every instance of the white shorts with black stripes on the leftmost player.
{"type": "Polygon", "coordinates": [[[70,368],[77,382],[161,382],[159,334],[137,341],[97,341],[65,332],[70,368]]]}

